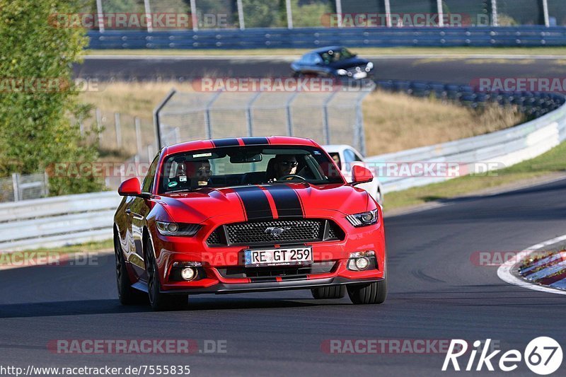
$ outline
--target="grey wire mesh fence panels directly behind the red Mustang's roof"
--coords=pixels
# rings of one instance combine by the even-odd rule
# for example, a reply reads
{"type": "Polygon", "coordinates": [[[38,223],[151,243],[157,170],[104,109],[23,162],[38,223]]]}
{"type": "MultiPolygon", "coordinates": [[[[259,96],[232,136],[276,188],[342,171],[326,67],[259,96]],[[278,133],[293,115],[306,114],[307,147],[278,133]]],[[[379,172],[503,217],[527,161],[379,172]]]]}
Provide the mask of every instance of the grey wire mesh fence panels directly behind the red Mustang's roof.
{"type": "Polygon", "coordinates": [[[289,135],[352,144],[365,153],[362,100],[375,88],[330,93],[173,91],[156,111],[159,145],[195,139],[289,135]]]}

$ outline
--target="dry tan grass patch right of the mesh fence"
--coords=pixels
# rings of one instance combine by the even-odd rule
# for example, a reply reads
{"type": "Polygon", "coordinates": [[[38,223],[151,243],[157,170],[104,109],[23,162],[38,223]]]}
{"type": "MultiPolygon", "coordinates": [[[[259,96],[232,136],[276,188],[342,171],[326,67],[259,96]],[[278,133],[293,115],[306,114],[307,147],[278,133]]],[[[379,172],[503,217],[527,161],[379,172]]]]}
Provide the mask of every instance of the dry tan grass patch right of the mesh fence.
{"type": "Polygon", "coordinates": [[[473,137],[524,122],[513,108],[470,110],[434,98],[375,92],[364,100],[369,156],[473,137]]]}

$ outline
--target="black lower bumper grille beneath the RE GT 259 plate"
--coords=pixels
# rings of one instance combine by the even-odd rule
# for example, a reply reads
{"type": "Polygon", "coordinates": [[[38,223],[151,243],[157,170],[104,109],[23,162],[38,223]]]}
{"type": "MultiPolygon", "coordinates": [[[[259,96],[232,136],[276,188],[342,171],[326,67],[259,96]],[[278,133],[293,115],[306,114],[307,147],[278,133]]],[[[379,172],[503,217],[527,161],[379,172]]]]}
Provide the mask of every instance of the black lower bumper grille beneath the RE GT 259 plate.
{"type": "Polygon", "coordinates": [[[282,277],[287,279],[306,278],[307,274],[325,274],[333,272],[337,262],[314,262],[310,266],[274,266],[274,267],[226,267],[219,268],[218,272],[226,279],[242,277],[266,278],[282,277]]]}

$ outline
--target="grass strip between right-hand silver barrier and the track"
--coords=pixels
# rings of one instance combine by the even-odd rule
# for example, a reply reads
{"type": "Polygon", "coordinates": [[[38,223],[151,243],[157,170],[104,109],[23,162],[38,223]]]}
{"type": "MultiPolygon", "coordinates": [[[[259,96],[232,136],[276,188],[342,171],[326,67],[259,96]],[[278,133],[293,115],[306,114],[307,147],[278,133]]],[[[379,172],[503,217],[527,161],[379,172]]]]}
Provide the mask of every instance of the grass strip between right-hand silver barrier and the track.
{"type": "Polygon", "coordinates": [[[509,168],[496,170],[490,175],[466,175],[446,182],[414,187],[385,195],[385,209],[410,207],[440,199],[450,199],[479,190],[539,178],[566,170],[566,142],[550,151],[509,168]]]}

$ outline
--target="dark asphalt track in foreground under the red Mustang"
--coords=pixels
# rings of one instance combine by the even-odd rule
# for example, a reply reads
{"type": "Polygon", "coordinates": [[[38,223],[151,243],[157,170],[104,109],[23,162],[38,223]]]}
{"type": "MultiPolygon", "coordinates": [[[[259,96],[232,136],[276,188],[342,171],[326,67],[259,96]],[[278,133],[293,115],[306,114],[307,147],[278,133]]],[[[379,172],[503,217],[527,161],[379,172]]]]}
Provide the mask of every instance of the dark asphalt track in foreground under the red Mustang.
{"type": "MultiPolygon", "coordinates": [[[[565,197],[566,180],[558,180],[386,218],[390,291],[381,306],[284,291],[194,296],[187,311],[154,313],[146,306],[120,306],[112,256],[97,266],[4,271],[0,365],[188,364],[194,376],[446,376],[470,372],[442,373],[442,354],[327,354],[320,345],[491,338],[504,351],[523,352],[530,340],[546,335],[564,347],[563,296],[506,284],[497,267],[477,266],[470,256],[523,250],[566,233],[565,197]],[[226,340],[227,348],[226,354],[191,355],[50,352],[47,343],[60,339],[226,340]]],[[[513,373],[533,376],[524,363],[513,373]]]]}

